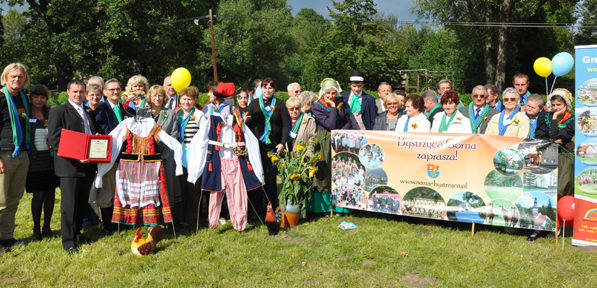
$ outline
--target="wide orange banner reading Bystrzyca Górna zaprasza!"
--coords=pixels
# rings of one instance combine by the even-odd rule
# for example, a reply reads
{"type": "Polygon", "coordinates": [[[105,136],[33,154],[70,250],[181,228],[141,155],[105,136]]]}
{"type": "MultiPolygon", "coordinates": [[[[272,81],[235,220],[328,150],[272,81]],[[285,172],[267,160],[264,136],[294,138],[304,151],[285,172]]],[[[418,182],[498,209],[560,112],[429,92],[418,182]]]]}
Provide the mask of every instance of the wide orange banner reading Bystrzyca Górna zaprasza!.
{"type": "Polygon", "coordinates": [[[555,231],[558,148],[492,135],[335,130],[332,204],[555,231]]]}

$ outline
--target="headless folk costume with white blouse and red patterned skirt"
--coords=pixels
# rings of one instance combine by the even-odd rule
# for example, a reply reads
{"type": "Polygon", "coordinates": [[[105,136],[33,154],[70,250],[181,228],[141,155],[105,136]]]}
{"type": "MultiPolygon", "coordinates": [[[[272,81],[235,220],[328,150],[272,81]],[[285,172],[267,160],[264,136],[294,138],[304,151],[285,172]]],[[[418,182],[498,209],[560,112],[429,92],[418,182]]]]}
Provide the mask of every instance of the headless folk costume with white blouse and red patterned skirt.
{"type": "Polygon", "coordinates": [[[98,165],[96,187],[120,158],[116,172],[116,195],[112,223],[157,225],[172,222],[166,174],[158,152],[161,142],[174,151],[176,175],[182,174],[180,143],[162,131],[153,119],[128,118],[112,132],[110,163],[98,165]]]}

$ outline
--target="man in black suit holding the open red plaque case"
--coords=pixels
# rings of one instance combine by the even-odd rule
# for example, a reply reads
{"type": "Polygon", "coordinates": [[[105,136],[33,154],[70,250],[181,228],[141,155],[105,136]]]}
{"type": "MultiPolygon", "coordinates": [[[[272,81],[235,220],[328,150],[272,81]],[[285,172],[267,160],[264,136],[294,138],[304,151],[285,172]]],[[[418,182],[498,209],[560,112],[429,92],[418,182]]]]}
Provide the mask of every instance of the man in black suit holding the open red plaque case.
{"type": "Polygon", "coordinates": [[[83,107],[85,84],[80,80],[73,80],[68,84],[66,92],[68,101],[50,110],[48,140],[56,155],[56,176],[60,177],[62,246],[69,254],[73,254],[79,252],[77,243],[89,241],[81,234],[81,228],[97,166],[87,160],[75,160],[58,154],[62,129],[95,134],[93,117],[83,107]]]}

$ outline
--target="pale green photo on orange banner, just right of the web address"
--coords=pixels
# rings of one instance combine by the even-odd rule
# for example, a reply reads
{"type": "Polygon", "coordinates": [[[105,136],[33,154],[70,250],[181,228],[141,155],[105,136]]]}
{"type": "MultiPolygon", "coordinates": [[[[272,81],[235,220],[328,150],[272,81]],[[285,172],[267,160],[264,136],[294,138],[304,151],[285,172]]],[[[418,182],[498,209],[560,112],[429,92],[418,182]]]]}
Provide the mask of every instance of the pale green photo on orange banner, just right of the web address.
{"type": "Polygon", "coordinates": [[[516,201],[522,190],[522,179],[519,175],[508,177],[492,170],[485,177],[485,193],[491,200],[504,198],[516,201]]]}

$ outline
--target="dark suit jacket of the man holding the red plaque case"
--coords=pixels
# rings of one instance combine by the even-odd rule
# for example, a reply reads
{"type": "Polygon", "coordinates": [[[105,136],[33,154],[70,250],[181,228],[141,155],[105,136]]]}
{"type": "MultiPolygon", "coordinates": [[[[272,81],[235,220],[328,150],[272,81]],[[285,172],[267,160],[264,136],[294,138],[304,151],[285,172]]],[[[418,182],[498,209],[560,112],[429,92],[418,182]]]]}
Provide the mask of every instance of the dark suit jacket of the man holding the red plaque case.
{"type": "MultiPolygon", "coordinates": [[[[85,113],[89,119],[89,129],[91,129],[91,134],[95,134],[93,117],[91,117],[89,113],[85,113]]],[[[58,155],[62,129],[85,133],[85,124],[83,123],[83,119],[81,119],[81,115],[79,115],[79,112],[77,112],[75,107],[68,101],[63,105],[52,108],[48,117],[48,140],[50,146],[54,149],[54,155],[56,155],[54,157],[56,176],[72,178],[85,177],[91,171],[95,171],[97,168],[96,164],[82,164],[78,160],[58,155]]]]}

